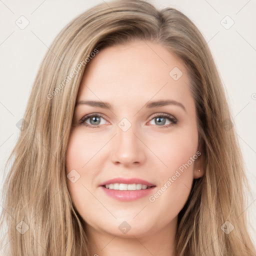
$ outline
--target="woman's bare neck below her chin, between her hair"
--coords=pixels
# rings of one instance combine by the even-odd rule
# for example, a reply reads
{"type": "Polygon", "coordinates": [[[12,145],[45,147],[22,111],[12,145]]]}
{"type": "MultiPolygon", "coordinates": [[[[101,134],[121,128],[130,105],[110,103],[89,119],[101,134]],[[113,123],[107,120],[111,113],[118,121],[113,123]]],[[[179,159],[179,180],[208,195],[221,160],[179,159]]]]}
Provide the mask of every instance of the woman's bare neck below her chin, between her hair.
{"type": "MultiPolygon", "coordinates": [[[[156,229],[145,235],[118,236],[86,224],[89,255],[94,256],[174,256],[174,239],[177,219],[173,219],[168,225],[156,229]]],[[[128,234],[128,233],[127,233],[128,234]]]]}

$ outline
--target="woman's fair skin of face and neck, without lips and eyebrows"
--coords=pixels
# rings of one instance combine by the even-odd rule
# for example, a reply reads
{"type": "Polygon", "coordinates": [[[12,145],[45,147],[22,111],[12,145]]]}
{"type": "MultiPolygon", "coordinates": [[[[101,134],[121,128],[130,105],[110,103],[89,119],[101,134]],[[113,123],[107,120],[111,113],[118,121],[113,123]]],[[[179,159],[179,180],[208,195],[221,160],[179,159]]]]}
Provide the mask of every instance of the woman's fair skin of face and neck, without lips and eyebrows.
{"type": "Polygon", "coordinates": [[[148,196],[118,201],[99,184],[115,177],[138,177],[156,185],[153,194],[196,153],[195,104],[188,84],[181,60],[155,42],[110,46],[87,64],[77,102],[97,100],[112,107],[77,104],[66,154],[66,173],[75,169],[80,175],[75,182],[68,179],[68,189],[85,221],[90,255],[174,255],[177,215],[193,179],[203,175],[200,157],[153,202],[148,196]],[[183,73],[178,80],[169,75],[174,67],[183,73]],[[145,107],[160,99],[178,101],[186,110],[174,104],[145,107]],[[98,125],[90,118],[85,121],[90,127],[79,123],[90,113],[103,115],[98,125]],[[154,117],[161,113],[174,116],[177,123],[167,118],[165,124],[157,123],[154,117]],[[131,123],[125,132],[118,126],[124,117],[131,123]],[[131,226],[125,234],[118,229],[123,221],[131,226]]]}

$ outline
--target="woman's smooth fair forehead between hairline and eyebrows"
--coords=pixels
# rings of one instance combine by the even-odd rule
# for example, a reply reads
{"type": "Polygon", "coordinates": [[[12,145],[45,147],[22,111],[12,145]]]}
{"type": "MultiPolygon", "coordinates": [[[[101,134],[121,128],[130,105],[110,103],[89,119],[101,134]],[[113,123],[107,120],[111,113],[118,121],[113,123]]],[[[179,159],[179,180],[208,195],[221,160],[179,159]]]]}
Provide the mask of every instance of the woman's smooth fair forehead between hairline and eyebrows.
{"type": "Polygon", "coordinates": [[[158,43],[138,40],[99,51],[85,68],[77,100],[130,104],[152,97],[191,99],[188,84],[179,58],[158,43]]]}

